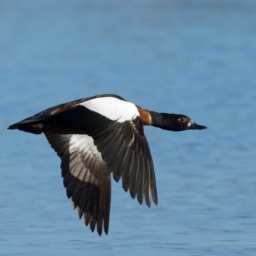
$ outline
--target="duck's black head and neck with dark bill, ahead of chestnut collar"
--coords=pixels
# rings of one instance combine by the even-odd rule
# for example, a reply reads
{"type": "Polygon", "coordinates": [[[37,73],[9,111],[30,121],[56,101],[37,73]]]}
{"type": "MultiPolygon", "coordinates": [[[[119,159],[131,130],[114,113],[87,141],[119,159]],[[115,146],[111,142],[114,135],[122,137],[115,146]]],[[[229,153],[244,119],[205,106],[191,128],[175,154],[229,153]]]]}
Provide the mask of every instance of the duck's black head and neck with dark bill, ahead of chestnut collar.
{"type": "Polygon", "coordinates": [[[206,126],[196,124],[191,118],[185,115],[159,113],[152,120],[152,125],[168,131],[202,130],[206,126]]]}

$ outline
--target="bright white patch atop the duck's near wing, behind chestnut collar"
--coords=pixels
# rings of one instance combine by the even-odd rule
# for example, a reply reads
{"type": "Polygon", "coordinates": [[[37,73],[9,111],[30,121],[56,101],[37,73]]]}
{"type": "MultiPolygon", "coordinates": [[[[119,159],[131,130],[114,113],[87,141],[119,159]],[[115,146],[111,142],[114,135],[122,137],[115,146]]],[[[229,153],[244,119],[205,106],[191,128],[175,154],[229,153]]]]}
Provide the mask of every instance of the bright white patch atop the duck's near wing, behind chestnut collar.
{"type": "Polygon", "coordinates": [[[138,109],[133,103],[113,97],[95,98],[77,105],[84,106],[111,120],[118,120],[120,123],[140,116],[138,109]]]}

